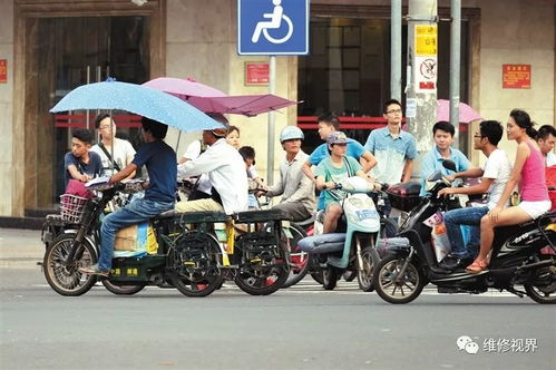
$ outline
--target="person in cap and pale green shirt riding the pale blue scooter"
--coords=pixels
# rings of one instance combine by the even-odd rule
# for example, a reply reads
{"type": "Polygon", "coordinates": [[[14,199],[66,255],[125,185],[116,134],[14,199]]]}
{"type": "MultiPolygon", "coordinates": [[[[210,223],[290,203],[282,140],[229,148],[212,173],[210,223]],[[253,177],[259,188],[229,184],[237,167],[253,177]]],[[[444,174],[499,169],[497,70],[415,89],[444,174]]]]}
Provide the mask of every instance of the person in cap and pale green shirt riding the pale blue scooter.
{"type": "Polygon", "coordinates": [[[345,192],[335,189],[336,183],[348,177],[360,176],[371,181],[363,172],[359,162],[347,156],[348,137],[342,132],[334,132],[326,138],[330,156],[316,166],[316,188],[324,193],[325,216],[323,233],[333,233],[338,220],[343,213],[340,201],[345,197],[345,192]]]}

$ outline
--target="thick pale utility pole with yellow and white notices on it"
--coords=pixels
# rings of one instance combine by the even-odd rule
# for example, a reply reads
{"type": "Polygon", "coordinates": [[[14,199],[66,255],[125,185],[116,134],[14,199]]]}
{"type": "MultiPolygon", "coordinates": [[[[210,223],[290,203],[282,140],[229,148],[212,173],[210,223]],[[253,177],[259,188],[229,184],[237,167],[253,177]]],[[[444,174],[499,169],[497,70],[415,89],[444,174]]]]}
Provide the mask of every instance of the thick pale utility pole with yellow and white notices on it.
{"type": "Polygon", "coordinates": [[[409,0],[408,19],[408,128],[417,143],[413,177],[432,146],[437,118],[438,9],[436,0],[409,0]]]}

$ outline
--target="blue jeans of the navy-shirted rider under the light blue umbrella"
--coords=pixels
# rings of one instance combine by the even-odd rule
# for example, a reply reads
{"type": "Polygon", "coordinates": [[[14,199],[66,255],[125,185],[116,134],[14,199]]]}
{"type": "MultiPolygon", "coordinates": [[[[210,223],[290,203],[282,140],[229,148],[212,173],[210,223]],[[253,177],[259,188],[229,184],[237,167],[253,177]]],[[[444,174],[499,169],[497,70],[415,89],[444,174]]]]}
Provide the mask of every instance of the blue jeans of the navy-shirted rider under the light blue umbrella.
{"type": "Polygon", "coordinates": [[[114,241],[118,230],[148,221],[164,211],[172,208],[174,208],[174,202],[156,202],[138,198],[124,208],[106,216],[100,226],[100,255],[98,257],[98,269],[101,271],[110,270],[114,241]]]}

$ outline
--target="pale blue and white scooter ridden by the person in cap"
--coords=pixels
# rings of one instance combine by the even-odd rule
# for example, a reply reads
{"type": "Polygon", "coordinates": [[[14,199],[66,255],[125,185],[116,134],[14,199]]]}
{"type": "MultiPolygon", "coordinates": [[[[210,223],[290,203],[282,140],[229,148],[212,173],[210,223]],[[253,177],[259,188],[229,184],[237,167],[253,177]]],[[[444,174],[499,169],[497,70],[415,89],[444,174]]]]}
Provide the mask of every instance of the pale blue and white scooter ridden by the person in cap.
{"type": "MultiPolygon", "coordinates": [[[[347,194],[339,199],[344,212],[345,233],[310,236],[299,244],[303,251],[318,259],[325,290],[334,289],[345,271],[355,271],[359,288],[370,292],[373,290],[373,266],[379,261],[374,246],[381,230],[381,216],[368,195],[375,191],[375,185],[353,176],[335,184],[334,188],[347,194]]],[[[382,187],[379,189],[382,191],[382,187]]],[[[315,223],[322,221],[318,218],[315,223]]]]}

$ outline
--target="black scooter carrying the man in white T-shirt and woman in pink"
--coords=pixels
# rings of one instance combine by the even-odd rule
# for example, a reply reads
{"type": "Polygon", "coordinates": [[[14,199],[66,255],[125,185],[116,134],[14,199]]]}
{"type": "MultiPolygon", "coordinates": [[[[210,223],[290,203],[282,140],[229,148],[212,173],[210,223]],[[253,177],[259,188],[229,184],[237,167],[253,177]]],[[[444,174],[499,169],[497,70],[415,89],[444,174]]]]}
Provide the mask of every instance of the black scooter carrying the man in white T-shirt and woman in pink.
{"type": "MultiPolygon", "coordinates": [[[[443,162],[452,168],[451,160],[443,162]]],[[[518,296],[528,295],[538,303],[555,303],[556,213],[546,213],[520,225],[495,228],[489,270],[471,274],[465,270],[439,267],[431,245],[431,227],[425,222],[449,207],[450,201],[438,197],[450,182],[436,172],[429,177],[435,185],[400,226],[398,236],[406,243],[392,243],[382,251],[373,284],[377,293],[389,303],[409,303],[427,283],[437,285],[439,293],[486,292],[489,288],[506,290],[518,296]],[[542,252],[548,247],[552,253],[542,252]],[[525,291],[516,285],[523,285],[525,291]]]]}

